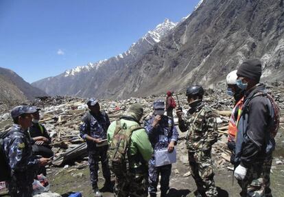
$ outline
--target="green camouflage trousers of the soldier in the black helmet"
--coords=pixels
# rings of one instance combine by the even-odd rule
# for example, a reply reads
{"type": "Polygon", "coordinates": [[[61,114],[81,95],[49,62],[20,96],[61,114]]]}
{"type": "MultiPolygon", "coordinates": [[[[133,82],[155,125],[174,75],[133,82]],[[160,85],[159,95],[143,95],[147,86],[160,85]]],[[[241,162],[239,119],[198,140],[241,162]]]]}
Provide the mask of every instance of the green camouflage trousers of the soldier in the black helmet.
{"type": "Polygon", "coordinates": [[[189,165],[194,181],[196,181],[198,192],[202,196],[218,196],[215,181],[213,179],[214,172],[211,150],[189,152],[189,165]]]}

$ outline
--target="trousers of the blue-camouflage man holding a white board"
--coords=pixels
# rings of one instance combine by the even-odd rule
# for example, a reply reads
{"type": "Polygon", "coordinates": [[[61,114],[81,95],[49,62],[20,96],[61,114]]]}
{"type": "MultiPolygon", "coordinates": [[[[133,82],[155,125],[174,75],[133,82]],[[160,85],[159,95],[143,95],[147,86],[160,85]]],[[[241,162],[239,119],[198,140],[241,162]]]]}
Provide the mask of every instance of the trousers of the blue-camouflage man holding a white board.
{"type": "Polygon", "coordinates": [[[171,176],[171,165],[155,167],[155,159],[149,161],[149,188],[150,194],[156,194],[158,186],[158,176],[161,174],[161,194],[166,194],[169,190],[169,176],[171,176]]]}

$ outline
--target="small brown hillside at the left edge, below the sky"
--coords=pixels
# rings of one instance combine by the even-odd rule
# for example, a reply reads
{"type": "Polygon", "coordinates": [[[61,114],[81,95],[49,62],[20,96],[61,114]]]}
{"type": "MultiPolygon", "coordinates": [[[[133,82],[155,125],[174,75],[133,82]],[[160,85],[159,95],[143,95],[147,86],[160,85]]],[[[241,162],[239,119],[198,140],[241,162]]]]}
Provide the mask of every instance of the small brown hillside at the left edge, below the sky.
{"type": "Polygon", "coordinates": [[[43,95],[47,94],[25,82],[10,69],[0,68],[0,102],[13,104],[43,95]]]}

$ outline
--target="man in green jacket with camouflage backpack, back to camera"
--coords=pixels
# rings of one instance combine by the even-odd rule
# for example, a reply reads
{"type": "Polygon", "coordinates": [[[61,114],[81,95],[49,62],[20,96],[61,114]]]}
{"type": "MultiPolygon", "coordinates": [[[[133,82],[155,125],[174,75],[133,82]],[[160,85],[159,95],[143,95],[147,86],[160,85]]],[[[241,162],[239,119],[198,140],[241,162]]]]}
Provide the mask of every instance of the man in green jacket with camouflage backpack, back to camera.
{"type": "MultiPolygon", "coordinates": [[[[141,104],[132,104],[125,115],[119,120],[113,121],[108,128],[108,142],[110,143],[110,158],[113,158],[113,141],[119,140],[117,129],[121,128],[121,137],[128,139],[126,154],[121,155],[126,158],[123,161],[125,169],[121,168],[119,173],[115,174],[115,196],[116,197],[147,197],[147,163],[152,156],[152,146],[148,139],[147,132],[140,126],[140,120],[143,116],[143,107],[141,104]],[[126,164],[127,163],[127,164],[126,164]]],[[[115,146],[119,146],[115,143],[115,146]]],[[[115,148],[115,147],[114,147],[115,148]]],[[[120,152],[120,147],[116,150],[120,152]]],[[[117,152],[115,151],[115,153],[117,152]]],[[[119,157],[121,159],[121,157],[119,157]]],[[[110,161],[112,162],[112,161],[110,161]]],[[[113,167],[115,167],[113,165],[113,167]]]]}

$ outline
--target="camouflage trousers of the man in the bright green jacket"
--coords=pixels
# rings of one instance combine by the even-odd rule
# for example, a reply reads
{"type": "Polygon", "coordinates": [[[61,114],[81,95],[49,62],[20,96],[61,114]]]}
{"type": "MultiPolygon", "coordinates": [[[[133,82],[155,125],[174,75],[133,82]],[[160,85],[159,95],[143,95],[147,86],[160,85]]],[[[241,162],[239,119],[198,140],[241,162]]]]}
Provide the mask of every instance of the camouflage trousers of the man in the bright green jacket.
{"type": "Polygon", "coordinates": [[[147,197],[147,173],[115,177],[115,197],[147,197]]]}

